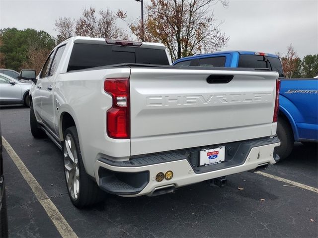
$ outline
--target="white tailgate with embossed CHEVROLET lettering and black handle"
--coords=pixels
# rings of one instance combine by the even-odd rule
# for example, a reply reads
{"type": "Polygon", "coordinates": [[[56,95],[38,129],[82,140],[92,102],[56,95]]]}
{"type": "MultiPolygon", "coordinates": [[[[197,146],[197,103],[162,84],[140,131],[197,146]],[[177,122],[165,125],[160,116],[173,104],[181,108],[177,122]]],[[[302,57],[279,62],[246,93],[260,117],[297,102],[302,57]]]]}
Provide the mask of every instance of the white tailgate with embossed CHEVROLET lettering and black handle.
{"type": "Polygon", "coordinates": [[[277,78],[248,69],[131,67],[131,155],[275,134],[277,78]]]}

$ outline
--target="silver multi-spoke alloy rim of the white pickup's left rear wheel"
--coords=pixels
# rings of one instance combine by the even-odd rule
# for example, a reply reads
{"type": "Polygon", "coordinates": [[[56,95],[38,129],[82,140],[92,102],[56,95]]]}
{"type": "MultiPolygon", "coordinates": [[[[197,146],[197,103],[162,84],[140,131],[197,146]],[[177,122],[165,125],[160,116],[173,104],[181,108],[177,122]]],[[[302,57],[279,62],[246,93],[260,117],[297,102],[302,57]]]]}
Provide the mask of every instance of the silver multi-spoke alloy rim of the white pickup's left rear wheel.
{"type": "Polygon", "coordinates": [[[79,197],[79,160],[71,134],[67,134],[64,141],[64,171],[68,190],[76,200],[79,197]]]}

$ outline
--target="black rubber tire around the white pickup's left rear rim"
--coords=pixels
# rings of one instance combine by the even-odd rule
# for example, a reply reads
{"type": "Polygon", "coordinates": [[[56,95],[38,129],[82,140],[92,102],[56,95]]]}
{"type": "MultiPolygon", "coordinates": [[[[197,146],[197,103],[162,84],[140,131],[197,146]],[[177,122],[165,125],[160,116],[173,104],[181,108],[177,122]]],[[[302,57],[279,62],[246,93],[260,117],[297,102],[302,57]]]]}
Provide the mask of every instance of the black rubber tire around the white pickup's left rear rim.
{"type": "MultiPolygon", "coordinates": [[[[68,186],[68,181],[66,177],[66,167],[64,166],[64,174],[66,186],[68,189],[69,197],[74,204],[74,206],[81,208],[85,206],[90,206],[101,202],[105,198],[105,193],[98,187],[97,183],[91,179],[85,171],[84,164],[81,157],[81,152],[79,148],[79,136],[75,126],[69,127],[65,130],[64,133],[64,143],[63,143],[63,151],[65,149],[65,140],[67,135],[71,135],[74,144],[76,146],[76,153],[78,158],[78,166],[79,166],[79,191],[78,197],[74,199],[71,195],[71,191],[68,186]]],[[[63,153],[65,156],[65,153],[63,153]]],[[[64,158],[65,159],[65,158],[64,158]]]]}

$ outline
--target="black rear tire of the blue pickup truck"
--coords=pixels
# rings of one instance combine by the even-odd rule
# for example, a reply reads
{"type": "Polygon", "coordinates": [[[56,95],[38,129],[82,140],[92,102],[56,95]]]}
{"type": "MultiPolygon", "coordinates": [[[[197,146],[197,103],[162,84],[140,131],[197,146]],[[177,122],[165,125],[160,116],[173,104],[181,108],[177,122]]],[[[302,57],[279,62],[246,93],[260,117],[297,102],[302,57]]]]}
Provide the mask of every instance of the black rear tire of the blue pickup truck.
{"type": "Polygon", "coordinates": [[[294,134],[289,122],[279,117],[277,121],[277,136],[280,139],[280,146],[275,147],[274,153],[279,155],[281,160],[286,159],[294,147],[294,134]]]}

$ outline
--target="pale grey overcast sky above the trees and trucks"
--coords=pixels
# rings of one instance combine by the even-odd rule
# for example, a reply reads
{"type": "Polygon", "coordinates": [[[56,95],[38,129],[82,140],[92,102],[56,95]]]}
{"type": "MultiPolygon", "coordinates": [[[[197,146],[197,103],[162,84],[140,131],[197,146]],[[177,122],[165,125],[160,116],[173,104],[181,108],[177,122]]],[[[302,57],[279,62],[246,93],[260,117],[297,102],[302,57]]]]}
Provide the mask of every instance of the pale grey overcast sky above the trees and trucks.
{"type": "MultiPolygon", "coordinates": [[[[150,0],[144,0],[144,5],[150,0]]],[[[55,19],[78,19],[84,7],[110,8],[140,18],[135,0],[0,0],[0,29],[34,28],[53,36],[55,19]]],[[[318,54],[318,0],[229,0],[229,6],[211,5],[221,31],[230,37],[222,50],[286,53],[292,44],[299,57],[318,54]]],[[[118,20],[126,28],[126,23],[118,20]]]]}

